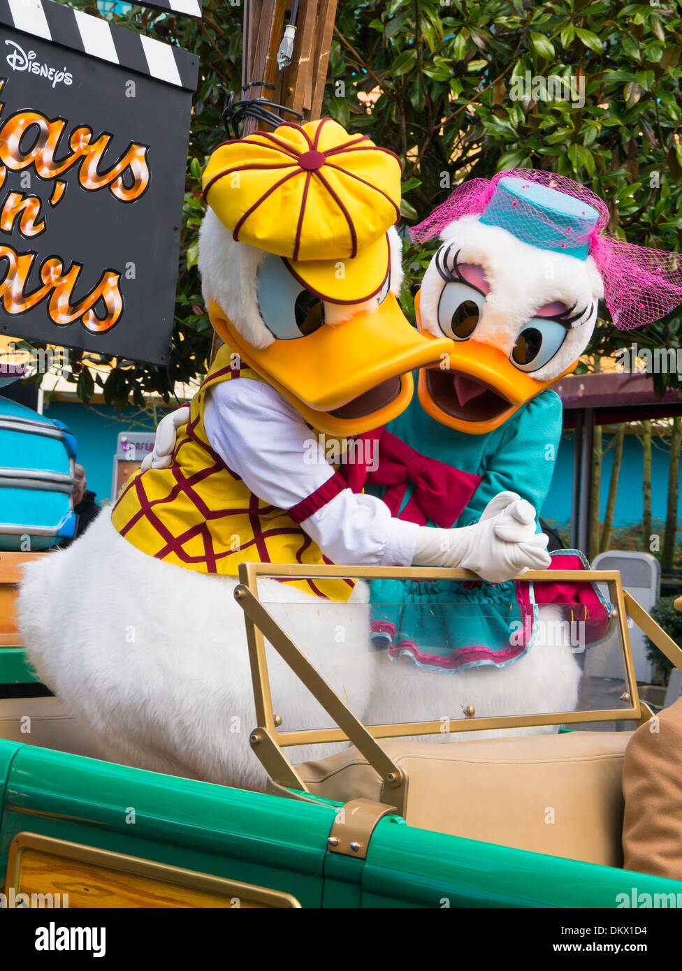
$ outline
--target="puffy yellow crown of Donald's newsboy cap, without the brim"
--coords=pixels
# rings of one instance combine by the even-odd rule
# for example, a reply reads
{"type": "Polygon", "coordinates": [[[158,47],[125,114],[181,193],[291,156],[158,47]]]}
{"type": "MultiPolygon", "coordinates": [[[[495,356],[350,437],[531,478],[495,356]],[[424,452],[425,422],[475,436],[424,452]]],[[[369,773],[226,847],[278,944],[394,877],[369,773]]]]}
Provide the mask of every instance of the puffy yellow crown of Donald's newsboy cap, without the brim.
{"type": "Polygon", "coordinates": [[[332,118],[223,142],[203,187],[235,240],[296,262],[354,258],[400,216],[397,156],[332,118]]]}

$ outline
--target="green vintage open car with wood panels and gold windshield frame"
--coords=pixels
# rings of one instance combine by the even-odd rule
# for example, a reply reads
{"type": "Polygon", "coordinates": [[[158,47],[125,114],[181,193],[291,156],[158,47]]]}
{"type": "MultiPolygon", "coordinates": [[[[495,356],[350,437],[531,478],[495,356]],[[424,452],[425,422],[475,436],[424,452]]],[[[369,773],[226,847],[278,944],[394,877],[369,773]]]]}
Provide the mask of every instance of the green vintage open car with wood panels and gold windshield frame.
{"type": "MultiPolygon", "coordinates": [[[[682,651],[623,591],[618,573],[584,574],[608,589],[608,630],[580,659],[582,710],[483,719],[466,706],[448,719],[446,735],[561,727],[454,742],[444,738],[441,713],[363,725],[257,598],[259,576],[341,576],[348,567],[244,564],[235,596],[255,688],[251,744],[270,778],[263,793],[87,757],[87,738],[35,684],[17,644],[14,589],[30,555],[0,555],[4,906],[64,906],[66,894],[70,908],[596,908],[636,906],[633,887],[639,900],[682,893],[682,883],[621,868],[625,729],[651,718],[637,693],[628,619],[681,668],[682,651]],[[321,727],[281,730],[267,675],[273,650],[319,700],[321,727]],[[442,744],[429,744],[429,735],[442,744]],[[293,765],[287,757],[291,745],[332,742],[341,746],[323,758],[293,765]]],[[[470,579],[464,571],[419,576],[470,579]]],[[[390,676],[392,665],[385,668],[390,676]]]]}

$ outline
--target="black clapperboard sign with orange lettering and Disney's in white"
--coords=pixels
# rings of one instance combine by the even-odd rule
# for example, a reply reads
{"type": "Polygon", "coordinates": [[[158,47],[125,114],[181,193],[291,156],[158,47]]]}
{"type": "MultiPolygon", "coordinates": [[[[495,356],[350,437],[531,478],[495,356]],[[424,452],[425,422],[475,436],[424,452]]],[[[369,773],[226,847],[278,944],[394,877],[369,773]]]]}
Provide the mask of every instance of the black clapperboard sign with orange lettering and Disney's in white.
{"type": "Polygon", "coordinates": [[[0,0],[0,334],[167,363],[197,68],[51,0],[0,0]]]}

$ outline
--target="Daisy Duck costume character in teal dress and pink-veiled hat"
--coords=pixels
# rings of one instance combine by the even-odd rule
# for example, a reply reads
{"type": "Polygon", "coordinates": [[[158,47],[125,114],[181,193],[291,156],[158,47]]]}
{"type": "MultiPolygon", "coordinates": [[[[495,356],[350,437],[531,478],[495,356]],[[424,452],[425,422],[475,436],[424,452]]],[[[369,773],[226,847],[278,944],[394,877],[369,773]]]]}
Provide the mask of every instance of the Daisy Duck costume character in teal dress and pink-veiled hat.
{"type": "MultiPolygon", "coordinates": [[[[675,254],[611,238],[607,221],[589,189],[515,170],[462,184],[415,227],[414,239],[442,241],[417,295],[419,327],[455,347],[420,370],[419,400],[380,433],[379,467],[360,476],[393,516],[457,529],[513,490],[539,517],[562,430],[550,385],[585,351],[599,299],[626,329],[665,316],[682,297],[675,254]]],[[[562,551],[552,565],[587,563],[562,551]]],[[[394,695],[405,720],[425,718],[425,698],[444,716],[469,706],[479,717],[571,711],[578,653],[609,629],[597,590],[579,582],[384,580],[372,582],[371,599],[375,645],[409,659],[376,680],[379,721],[394,715],[394,695]],[[554,636],[548,621],[561,626],[568,613],[583,620],[582,637],[554,636]]]]}

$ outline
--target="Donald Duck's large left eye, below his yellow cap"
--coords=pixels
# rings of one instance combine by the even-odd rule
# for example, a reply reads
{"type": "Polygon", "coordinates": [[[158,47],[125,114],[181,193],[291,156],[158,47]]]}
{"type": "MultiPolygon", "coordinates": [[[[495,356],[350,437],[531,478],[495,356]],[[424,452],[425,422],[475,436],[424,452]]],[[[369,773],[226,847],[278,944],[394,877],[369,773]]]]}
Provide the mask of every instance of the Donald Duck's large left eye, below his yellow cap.
{"type": "Polygon", "coordinates": [[[280,341],[315,333],[324,324],[324,304],[291,276],[280,256],[268,255],[258,267],[256,299],[260,317],[280,341]]]}

